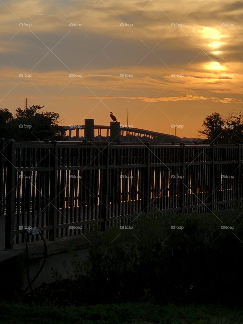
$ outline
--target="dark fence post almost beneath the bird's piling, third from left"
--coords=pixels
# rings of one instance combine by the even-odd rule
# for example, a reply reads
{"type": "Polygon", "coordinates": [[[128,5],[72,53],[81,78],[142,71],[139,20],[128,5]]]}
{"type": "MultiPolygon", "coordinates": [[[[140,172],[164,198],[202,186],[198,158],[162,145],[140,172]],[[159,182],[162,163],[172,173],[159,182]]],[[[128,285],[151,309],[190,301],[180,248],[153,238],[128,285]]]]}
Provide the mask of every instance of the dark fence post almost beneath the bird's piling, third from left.
{"type": "Polygon", "coordinates": [[[103,155],[103,165],[105,165],[105,169],[102,171],[102,180],[101,180],[101,195],[100,195],[100,208],[99,208],[99,218],[103,218],[103,222],[101,223],[101,230],[105,231],[106,229],[106,221],[109,212],[109,204],[110,204],[110,194],[109,194],[109,185],[110,185],[110,147],[108,142],[105,142],[106,145],[102,150],[103,155]]]}

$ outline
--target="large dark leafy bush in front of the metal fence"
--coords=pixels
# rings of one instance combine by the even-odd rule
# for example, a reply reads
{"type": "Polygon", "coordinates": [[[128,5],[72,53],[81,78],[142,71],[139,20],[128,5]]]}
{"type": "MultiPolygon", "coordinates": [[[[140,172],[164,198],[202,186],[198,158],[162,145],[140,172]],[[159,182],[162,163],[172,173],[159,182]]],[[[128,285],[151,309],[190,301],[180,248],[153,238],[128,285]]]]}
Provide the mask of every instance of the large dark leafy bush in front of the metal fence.
{"type": "Polygon", "coordinates": [[[105,233],[95,228],[87,261],[73,255],[75,280],[59,280],[53,294],[58,290],[62,300],[66,291],[85,304],[240,302],[243,221],[235,219],[219,213],[155,215],[133,222],[131,230],[120,224],[105,233]]]}

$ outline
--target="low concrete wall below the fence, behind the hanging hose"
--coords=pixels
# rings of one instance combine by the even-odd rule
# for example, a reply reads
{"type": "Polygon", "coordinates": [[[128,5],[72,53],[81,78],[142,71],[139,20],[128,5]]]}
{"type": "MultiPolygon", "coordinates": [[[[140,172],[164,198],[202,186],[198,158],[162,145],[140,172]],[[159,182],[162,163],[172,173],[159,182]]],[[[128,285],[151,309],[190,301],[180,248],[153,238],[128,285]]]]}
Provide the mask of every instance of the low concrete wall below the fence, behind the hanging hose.
{"type": "MultiPolygon", "coordinates": [[[[63,238],[62,238],[63,241],[63,238]]],[[[84,237],[67,237],[65,241],[56,241],[47,243],[47,260],[39,277],[33,283],[35,289],[42,283],[52,283],[55,279],[52,277],[52,269],[58,270],[64,278],[68,275],[65,272],[63,262],[67,264],[66,269],[72,274],[73,268],[72,251],[75,251],[78,258],[85,260],[88,256],[87,239],[84,237]]],[[[30,243],[29,244],[29,277],[30,281],[39,271],[44,260],[44,245],[30,243]]],[[[2,284],[0,289],[0,299],[4,300],[19,300],[23,295],[23,290],[28,286],[26,275],[26,249],[24,245],[18,245],[11,250],[0,251],[0,276],[2,284]]],[[[30,289],[27,293],[30,292],[30,289]]]]}

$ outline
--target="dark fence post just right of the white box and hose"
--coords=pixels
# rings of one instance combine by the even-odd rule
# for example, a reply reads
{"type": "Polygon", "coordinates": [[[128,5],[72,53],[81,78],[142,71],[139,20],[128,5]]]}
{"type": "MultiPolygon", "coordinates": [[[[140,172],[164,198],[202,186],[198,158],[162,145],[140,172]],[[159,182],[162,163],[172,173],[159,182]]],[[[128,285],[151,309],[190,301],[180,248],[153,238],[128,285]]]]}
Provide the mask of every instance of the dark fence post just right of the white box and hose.
{"type": "Polygon", "coordinates": [[[49,225],[52,229],[49,231],[49,240],[56,240],[56,224],[57,224],[57,141],[52,142],[53,148],[50,150],[50,164],[53,170],[50,171],[50,214],[49,225]]]}

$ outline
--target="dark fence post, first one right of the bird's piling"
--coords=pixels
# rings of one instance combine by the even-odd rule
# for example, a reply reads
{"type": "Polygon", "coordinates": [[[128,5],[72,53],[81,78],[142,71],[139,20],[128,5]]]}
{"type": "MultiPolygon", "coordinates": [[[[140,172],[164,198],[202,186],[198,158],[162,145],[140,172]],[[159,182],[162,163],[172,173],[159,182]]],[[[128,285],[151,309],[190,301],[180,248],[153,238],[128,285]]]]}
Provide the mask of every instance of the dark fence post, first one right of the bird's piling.
{"type": "Polygon", "coordinates": [[[150,184],[150,161],[151,161],[151,151],[150,151],[150,143],[145,142],[147,146],[146,153],[147,156],[145,157],[146,167],[144,168],[144,179],[142,185],[142,212],[148,213],[150,210],[150,197],[151,197],[151,184],[150,184]]]}

